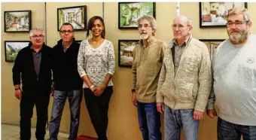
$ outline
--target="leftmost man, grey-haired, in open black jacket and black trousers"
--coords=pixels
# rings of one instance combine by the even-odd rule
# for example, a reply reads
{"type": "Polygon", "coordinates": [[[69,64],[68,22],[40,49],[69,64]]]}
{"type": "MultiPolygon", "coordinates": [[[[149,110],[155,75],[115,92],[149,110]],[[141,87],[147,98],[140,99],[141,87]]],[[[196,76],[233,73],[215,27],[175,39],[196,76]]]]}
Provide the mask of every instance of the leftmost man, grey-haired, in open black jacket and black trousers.
{"type": "Polygon", "coordinates": [[[43,29],[32,29],[29,34],[31,42],[28,47],[20,50],[13,67],[15,96],[20,99],[20,139],[31,138],[31,118],[35,105],[37,113],[35,137],[44,140],[52,84],[50,71],[52,48],[44,44],[43,29]]]}

